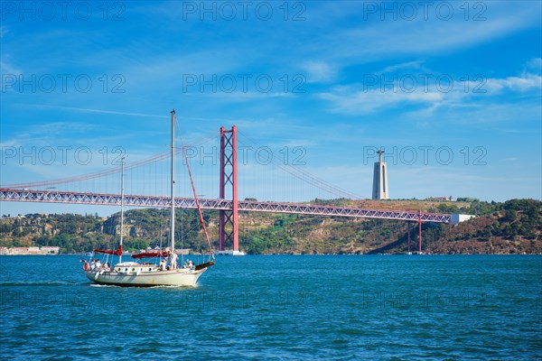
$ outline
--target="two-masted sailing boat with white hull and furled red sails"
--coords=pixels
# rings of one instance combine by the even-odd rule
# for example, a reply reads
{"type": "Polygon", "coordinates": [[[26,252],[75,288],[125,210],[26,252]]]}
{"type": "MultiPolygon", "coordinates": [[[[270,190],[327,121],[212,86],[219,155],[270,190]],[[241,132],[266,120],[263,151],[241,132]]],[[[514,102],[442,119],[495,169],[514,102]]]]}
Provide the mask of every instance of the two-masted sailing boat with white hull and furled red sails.
{"type": "Polygon", "coordinates": [[[170,218],[170,247],[162,250],[154,250],[151,252],[145,252],[141,254],[132,255],[134,259],[155,258],[161,259],[160,264],[151,263],[136,263],[136,262],[122,262],[122,241],[124,233],[124,159],[122,162],[122,176],[121,176],[121,196],[120,196],[120,242],[117,250],[107,249],[95,249],[95,253],[106,255],[117,255],[118,263],[115,266],[108,267],[102,265],[93,264],[93,267],[85,262],[83,269],[90,281],[99,284],[109,284],[117,286],[195,286],[196,282],[200,278],[207,268],[214,264],[214,255],[212,254],[212,248],[210,246],[209,235],[207,234],[207,228],[203,222],[201,215],[200,203],[196,195],[196,191],[192,181],[192,172],[190,171],[190,165],[188,165],[188,172],[192,181],[192,190],[194,191],[194,197],[196,204],[198,205],[198,211],[200,213],[200,221],[207,241],[210,246],[210,252],[212,259],[209,262],[202,264],[184,264],[182,267],[177,266],[177,255],[175,254],[175,204],[174,204],[174,162],[175,162],[175,110],[172,114],[172,179],[171,179],[171,218],[170,218]],[[166,259],[169,260],[169,265],[166,265],[166,259]]]}

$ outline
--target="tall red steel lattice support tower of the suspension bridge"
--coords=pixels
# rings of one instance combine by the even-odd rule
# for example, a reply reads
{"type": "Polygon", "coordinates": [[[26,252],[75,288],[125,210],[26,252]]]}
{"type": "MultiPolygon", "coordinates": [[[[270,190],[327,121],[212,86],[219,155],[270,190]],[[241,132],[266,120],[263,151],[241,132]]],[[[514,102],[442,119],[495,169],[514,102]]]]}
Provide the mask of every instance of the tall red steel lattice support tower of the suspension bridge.
{"type": "Polygon", "coordinates": [[[231,242],[234,251],[239,249],[238,233],[238,178],[237,178],[237,126],[231,130],[220,127],[220,199],[226,198],[226,186],[231,184],[231,210],[220,210],[219,250],[231,242]]]}

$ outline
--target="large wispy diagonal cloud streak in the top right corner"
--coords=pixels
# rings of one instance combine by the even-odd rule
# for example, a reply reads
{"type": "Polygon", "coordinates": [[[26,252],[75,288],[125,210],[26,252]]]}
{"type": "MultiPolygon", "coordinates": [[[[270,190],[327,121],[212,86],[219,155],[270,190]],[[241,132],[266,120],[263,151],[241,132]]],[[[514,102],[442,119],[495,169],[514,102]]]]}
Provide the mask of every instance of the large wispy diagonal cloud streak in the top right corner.
{"type": "MultiPolygon", "coordinates": [[[[322,6],[321,11],[324,14],[321,14],[321,17],[327,18],[327,23],[331,18],[333,23],[344,22],[345,26],[325,33],[318,42],[307,43],[303,48],[304,53],[312,54],[313,58],[323,63],[335,64],[339,71],[350,64],[389,59],[390,54],[394,57],[420,57],[436,52],[464,51],[477,44],[493,42],[509,34],[539,26],[540,23],[539,3],[529,1],[484,3],[487,8],[483,11],[483,21],[472,19],[476,13],[474,11],[469,14],[470,18],[465,20],[463,3],[448,3],[453,5],[454,12],[449,21],[435,16],[435,7],[427,20],[424,19],[423,10],[418,9],[419,16],[413,21],[394,21],[389,14],[384,21],[380,20],[379,14],[354,23],[346,21],[351,14],[356,14],[355,12],[363,14],[363,2],[359,3],[357,9],[345,7],[341,14],[337,14],[335,10],[332,16],[325,14],[329,8],[322,6]]],[[[313,19],[313,14],[310,19],[313,19]]],[[[417,64],[413,62],[398,65],[417,64]]],[[[393,66],[384,71],[392,69],[393,66]]]]}

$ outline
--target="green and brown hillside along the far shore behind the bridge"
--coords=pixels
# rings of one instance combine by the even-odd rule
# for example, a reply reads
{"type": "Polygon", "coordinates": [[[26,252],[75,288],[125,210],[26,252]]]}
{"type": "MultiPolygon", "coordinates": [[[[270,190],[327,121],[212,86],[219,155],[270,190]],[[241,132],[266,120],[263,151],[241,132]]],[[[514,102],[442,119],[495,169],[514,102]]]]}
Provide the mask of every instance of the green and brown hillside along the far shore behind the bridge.
{"type": "MultiPolygon", "coordinates": [[[[457,226],[423,225],[423,250],[433,254],[542,254],[542,202],[512,199],[504,203],[416,200],[314,199],[312,204],[378,209],[422,209],[436,213],[477,214],[457,226]]],[[[218,212],[206,211],[210,237],[217,243],[218,212]]],[[[125,249],[165,245],[168,211],[157,208],[126,212],[125,249]]],[[[416,250],[416,224],[411,224],[416,250]]],[[[0,219],[0,246],[58,245],[61,253],[115,247],[119,215],[109,218],[72,214],[0,219]]],[[[205,252],[207,245],[193,209],[177,212],[177,246],[205,252]],[[181,237],[181,233],[183,237],[181,237]]],[[[239,214],[239,244],[250,254],[377,254],[404,253],[406,222],[265,213],[239,214]]]]}

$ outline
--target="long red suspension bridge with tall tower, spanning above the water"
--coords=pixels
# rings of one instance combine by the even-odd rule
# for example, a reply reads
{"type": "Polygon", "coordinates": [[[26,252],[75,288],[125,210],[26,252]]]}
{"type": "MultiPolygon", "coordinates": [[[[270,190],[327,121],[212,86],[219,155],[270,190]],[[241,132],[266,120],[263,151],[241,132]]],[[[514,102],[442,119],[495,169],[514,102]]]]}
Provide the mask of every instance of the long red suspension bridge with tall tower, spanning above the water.
{"type": "MultiPolygon", "coordinates": [[[[182,146],[182,152],[185,147],[182,146]]],[[[168,155],[160,154],[141,162],[131,164],[130,169],[137,169],[148,164],[155,164],[167,159],[168,155]]],[[[320,180],[306,171],[288,169],[279,164],[284,171],[301,180],[316,185],[322,190],[327,190],[339,196],[355,196],[339,187],[320,180]]],[[[100,171],[81,176],[70,177],[62,180],[50,180],[42,182],[18,183],[0,186],[0,201],[15,202],[45,202],[67,203],[85,205],[119,206],[121,196],[110,192],[70,191],[57,190],[61,184],[72,184],[85,180],[97,180],[111,174],[117,174],[118,169],[100,171]]],[[[378,210],[354,207],[333,207],[307,203],[258,201],[256,199],[238,199],[238,129],[234,125],[231,129],[220,128],[220,187],[218,198],[198,197],[203,209],[215,209],[220,211],[219,222],[219,249],[224,250],[225,245],[231,245],[233,250],[238,250],[238,212],[267,212],[267,213],[293,213],[313,216],[332,216],[348,218],[378,218],[393,219],[408,222],[416,222],[418,225],[418,248],[421,253],[422,223],[450,223],[451,215],[425,213],[418,211],[401,210],[378,210]]],[[[352,197],[354,196],[354,197],[352,197]]],[[[132,207],[157,207],[166,208],[171,206],[171,199],[167,196],[125,194],[124,204],[132,207]]],[[[177,197],[174,200],[177,208],[197,208],[196,199],[177,197]]],[[[410,236],[410,233],[408,233],[410,236]]]]}

